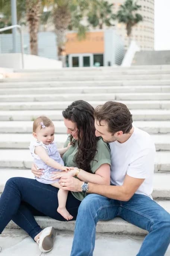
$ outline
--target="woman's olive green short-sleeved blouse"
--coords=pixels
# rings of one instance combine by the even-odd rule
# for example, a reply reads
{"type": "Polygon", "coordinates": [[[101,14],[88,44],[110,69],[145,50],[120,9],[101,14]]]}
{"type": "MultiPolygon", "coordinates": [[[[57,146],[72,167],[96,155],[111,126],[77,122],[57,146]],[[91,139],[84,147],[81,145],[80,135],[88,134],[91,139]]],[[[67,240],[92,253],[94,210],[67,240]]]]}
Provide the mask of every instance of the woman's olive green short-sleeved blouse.
{"type": "MultiPolygon", "coordinates": [[[[66,147],[69,143],[69,139],[64,143],[64,147],[66,147]]],[[[78,151],[78,142],[75,141],[75,145],[70,146],[70,148],[63,154],[62,158],[65,166],[73,166],[76,167],[76,163],[74,163],[73,158],[78,151]]],[[[110,149],[102,139],[97,142],[97,152],[95,154],[94,159],[90,163],[91,172],[95,173],[97,169],[102,164],[111,164],[110,160],[110,149]]],[[[78,200],[82,201],[86,196],[86,193],[83,192],[72,192],[73,196],[78,200]]]]}

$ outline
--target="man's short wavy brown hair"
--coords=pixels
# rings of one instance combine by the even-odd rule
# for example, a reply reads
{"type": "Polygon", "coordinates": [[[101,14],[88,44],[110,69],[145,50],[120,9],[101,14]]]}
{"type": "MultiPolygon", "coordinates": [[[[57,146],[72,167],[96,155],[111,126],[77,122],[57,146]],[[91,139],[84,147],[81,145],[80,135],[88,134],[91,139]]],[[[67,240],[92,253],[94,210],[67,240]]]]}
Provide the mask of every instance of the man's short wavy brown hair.
{"type": "Polygon", "coordinates": [[[94,118],[99,121],[106,121],[108,132],[114,134],[122,131],[129,133],[132,129],[132,114],[125,104],[114,101],[107,101],[104,105],[99,105],[94,110],[94,118]]]}

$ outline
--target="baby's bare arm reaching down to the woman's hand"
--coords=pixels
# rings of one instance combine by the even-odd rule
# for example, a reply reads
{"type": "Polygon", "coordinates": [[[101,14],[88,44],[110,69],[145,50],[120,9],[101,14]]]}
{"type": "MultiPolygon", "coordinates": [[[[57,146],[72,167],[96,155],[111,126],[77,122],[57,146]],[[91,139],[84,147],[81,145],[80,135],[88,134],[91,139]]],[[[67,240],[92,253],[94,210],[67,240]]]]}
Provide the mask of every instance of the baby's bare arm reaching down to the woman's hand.
{"type": "Polygon", "coordinates": [[[60,170],[66,170],[66,171],[70,170],[70,167],[62,166],[62,164],[59,164],[55,160],[50,158],[42,146],[35,147],[35,154],[37,154],[41,158],[41,160],[48,166],[51,166],[55,169],[60,169],[60,170]]]}

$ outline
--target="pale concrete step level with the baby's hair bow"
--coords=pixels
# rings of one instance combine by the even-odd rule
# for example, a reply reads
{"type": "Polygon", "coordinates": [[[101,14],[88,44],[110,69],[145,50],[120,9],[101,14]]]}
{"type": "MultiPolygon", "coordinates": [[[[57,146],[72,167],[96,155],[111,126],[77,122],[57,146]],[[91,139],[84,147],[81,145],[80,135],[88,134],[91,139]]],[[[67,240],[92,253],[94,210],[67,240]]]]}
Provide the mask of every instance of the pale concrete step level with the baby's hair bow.
{"type": "MultiPolygon", "coordinates": [[[[0,133],[32,133],[33,121],[0,121],[0,133]]],[[[133,124],[148,133],[170,133],[170,121],[134,121],[133,124]]],[[[66,133],[62,121],[54,121],[56,133],[66,133]]]]}

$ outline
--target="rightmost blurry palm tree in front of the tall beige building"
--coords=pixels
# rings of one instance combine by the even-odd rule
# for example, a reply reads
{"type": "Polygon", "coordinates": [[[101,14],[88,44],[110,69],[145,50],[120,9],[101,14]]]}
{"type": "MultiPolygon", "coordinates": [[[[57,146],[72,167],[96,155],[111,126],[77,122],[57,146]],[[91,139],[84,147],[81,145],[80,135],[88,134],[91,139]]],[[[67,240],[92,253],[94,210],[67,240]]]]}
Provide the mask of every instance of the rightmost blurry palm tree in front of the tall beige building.
{"type": "Polygon", "coordinates": [[[142,16],[139,13],[136,13],[136,11],[140,9],[141,6],[136,2],[134,3],[133,0],[126,0],[125,3],[120,6],[116,14],[118,21],[126,24],[126,31],[129,41],[132,34],[132,27],[138,22],[142,21],[142,16]]]}

